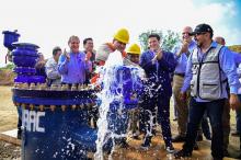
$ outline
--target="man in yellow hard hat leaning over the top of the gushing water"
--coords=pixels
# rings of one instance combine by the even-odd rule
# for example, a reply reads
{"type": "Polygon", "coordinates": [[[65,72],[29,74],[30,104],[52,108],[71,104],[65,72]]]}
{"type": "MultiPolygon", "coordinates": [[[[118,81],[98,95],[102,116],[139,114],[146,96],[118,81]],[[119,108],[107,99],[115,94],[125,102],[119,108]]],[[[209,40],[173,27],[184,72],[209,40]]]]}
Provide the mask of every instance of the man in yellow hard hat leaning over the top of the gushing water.
{"type": "Polygon", "coordinates": [[[118,30],[114,36],[112,43],[105,43],[100,46],[96,53],[95,61],[97,66],[103,66],[108,58],[111,53],[119,50],[123,57],[126,57],[125,48],[129,42],[129,33],[126,28],[118,30]]]}

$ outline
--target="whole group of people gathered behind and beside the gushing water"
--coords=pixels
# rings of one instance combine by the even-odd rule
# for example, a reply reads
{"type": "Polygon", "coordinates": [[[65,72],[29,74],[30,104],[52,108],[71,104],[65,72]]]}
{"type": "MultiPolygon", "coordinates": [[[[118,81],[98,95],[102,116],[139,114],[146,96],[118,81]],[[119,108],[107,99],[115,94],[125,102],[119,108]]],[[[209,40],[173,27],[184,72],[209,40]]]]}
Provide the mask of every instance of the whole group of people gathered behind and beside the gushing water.
{"type": "MultiPolygon", "coordinates": [[[[193,28],[185,26],[182,31],[182,43],[174,52],[163,50],[158,34],[148,37],[148,50],[141,53],[137,44],[129,46],[129,33],[118,30],[111,43],[105,43],[95,52],[93,39],[83,41],[84,50],[80,52],[80,39],[71,36],[68,41],[70,50],[53,49],[53,58],[45,64],[45,72],[49,84],[93,83],[97,76],[94,70],[103,66],[110,54],[122,53],[124,65],[134,65],[146,72],[144,93],[139,103],[140,113],[133,121],[139,122],[142,133],[141,148],[151,146],[156,135],[156,123],[161,125],[162,136],[168,152],[175,158],[191,157],[193,149],[198,149],[198,130],[202,122],[209,118],[211,134],[211,156],[221,160],[228,156],[230,133],[230,108],[237,110],[238,132],[241,137],[239,99],[239,64],[241,55],[225,46],[222,37],[214,38],[214,31],[208,24],[199,24],[193,28]],[[179,135],[172,137],[170,125],[170,99],[173,95],[177,111],[179,135]],[[174,151],[173,142],[184,142],[183,149],[174,151]]],[[[95,118],[96,121],[96,118],[95,118]]],[[[136,134],[134,137],[138,138],[136,134]]],[[[96,123],[95,123],[96,127],[96,123]]]]}

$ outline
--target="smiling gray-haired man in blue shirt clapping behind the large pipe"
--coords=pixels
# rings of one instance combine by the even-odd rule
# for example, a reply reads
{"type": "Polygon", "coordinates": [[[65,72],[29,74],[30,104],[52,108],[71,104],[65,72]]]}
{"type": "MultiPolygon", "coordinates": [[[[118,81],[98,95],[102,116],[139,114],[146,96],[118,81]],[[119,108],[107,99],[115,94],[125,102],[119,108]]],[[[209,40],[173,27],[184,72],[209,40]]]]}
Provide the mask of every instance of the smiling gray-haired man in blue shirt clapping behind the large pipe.
{"type": "Polygon", "coordinates": [[[90,57],[79,50],[80,39],[71,36],[68,45],[70,53],[66,50],[59,57],[58,71],[61,75],[62,83],[84,83],[87,73],[92,70],[90,57]]]}

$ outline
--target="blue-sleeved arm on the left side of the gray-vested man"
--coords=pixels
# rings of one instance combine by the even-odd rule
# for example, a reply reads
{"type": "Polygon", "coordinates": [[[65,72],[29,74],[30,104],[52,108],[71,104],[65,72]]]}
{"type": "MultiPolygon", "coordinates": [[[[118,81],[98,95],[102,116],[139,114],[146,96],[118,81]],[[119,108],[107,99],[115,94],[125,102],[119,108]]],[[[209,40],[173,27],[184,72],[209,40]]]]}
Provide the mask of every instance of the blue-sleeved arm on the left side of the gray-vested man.
{"type": "Polygon", "coordinates": [[[193,65],[192,65],[192,54],[191,54],[186,64],[185,78],[184,78],[183,87],[181,89],[182,93],[186,92],[191,87],[191,80],[193,78],[192,66],[193,65]]]}

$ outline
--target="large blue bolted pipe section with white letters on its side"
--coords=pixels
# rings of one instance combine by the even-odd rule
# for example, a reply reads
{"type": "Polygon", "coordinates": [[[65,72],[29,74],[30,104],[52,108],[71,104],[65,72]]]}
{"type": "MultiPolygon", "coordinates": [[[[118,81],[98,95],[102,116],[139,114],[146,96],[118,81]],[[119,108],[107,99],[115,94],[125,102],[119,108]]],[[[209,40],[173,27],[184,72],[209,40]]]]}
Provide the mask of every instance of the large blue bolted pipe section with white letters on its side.
{"type": "Polygon", "coordinates": [[[93,91],[12,91],[22,112],[23,160],[77,160],[95,151],[96,130],[87,122],[93,91]]]}

